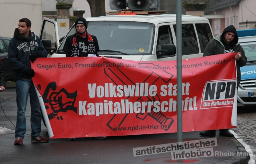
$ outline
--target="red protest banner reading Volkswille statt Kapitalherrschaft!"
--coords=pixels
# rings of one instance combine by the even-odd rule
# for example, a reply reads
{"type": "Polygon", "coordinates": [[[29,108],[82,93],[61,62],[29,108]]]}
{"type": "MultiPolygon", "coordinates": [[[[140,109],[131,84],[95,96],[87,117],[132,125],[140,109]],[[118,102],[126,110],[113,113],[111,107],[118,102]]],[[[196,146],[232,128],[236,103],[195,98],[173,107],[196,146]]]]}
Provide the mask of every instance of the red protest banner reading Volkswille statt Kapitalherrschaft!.
{"type": "MultiPolygon", "coordinates": [[[[236,126],[234,56],[182,60],[184,132],[236,126]]],[[[51,138],[177,132],[176,61],[38,58],[32,68],[51,138]]]]}

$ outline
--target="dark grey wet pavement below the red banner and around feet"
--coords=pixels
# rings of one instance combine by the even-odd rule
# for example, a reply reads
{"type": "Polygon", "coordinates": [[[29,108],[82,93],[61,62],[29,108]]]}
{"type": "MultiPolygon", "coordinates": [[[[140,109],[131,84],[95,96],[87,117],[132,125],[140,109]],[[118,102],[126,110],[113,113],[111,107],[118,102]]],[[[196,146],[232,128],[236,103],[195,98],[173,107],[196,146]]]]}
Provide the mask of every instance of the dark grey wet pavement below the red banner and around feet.
{"type": "MultiPolygon", "coordinates": [[[[15,86],[15,85],[14,85],[15,86]]],[[[0,92],[0,126],[14,130],[16,126],[16,93],[15,87],[8,87],[0,92]],[[8,120],[10,118],[11,122],[8,120]]],[[[28,102],[27,134],[31,133],[30,106],[28,102]]],[[[48,137],[47,129],[42,124],[42,136],[48,137]],[[45,130],[45,131],[44,131],[45,130]]],[[[183,141],[199,140],[210,137],[199,137],[200,132],[183,133],[183,141]]],[[[136,136],[107,137],[105,140],[94,138],[50,139],[49,143],[31,143],[30,136],[25,135],[23,145],[14,145],[14,133],[0,134],[0,164],[247,164],[249,154],[235,138],[218,135],[217,146],[213,147],[213,157],[197,157],[183,160],[172,160],[171,153],[133,156],[133,148],[177,142],[177,133],[150,134],[136,136]],[[217,156],[217,153],[223,153],[217,156]],[[242,155],[237,154],[242,152],[242,155]],[[226,155],[224,154],[226,153],[226,155]]]]}

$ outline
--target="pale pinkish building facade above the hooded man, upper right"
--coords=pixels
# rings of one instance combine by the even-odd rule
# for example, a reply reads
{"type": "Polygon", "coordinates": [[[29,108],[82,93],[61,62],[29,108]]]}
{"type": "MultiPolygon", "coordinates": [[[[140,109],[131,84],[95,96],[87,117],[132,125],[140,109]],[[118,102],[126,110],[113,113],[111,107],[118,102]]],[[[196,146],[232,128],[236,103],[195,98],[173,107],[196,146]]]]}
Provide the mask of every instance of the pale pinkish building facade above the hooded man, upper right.
{"type": "Polygon", "coordinates": [[[237,30],[256,28],[256,0],[216,0],[204,10],[214,35],[234,25],[237,30]]]}

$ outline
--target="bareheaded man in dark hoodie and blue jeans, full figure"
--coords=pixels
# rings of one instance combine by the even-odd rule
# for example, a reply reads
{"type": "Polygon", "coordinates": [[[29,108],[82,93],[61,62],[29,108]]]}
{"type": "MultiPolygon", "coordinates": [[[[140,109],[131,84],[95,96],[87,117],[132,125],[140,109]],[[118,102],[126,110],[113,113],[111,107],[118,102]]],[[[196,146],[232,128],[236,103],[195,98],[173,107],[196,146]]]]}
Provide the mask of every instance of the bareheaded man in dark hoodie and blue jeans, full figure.
{"type": "Polygon", "coordinates": [[[42,114],[35,86],[32,82],[35,72],[30,64],[30,61],[34,62],[36,58],[46,58],[47,52],[40,38],[31,32],[30,28],[31,21],[28,18],[19,20],[18,28],[15,29],[14,37],[8,47],[8,62],[16,75],[16,102],[18,106],[14,145],[21,145],[25,137],[25,112],[28,95],[31,106],[31,142],[49,141],[40,136],[42,114]]]}

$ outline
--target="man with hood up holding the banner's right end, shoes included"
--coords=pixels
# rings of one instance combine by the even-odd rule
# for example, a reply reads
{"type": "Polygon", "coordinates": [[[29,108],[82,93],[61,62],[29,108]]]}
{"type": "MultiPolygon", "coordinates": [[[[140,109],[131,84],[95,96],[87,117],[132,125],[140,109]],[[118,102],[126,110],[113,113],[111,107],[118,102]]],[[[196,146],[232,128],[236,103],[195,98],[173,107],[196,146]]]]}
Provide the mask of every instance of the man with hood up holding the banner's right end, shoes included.
{"type": "MultiPolygon", "coordinates": [[[[217,35],[209,41],[209,43],[206,45],[203,56],[218,55],[231,52],[237,52],[237,54],[235,55],[235,61],[238,86],[241,81],[240,67],[245,66],[247,58],[245,56],[245,51],[243,50],[242,46],[238,43],[238,35],[233,25],[226,27],[222,34],[217,35]]],[[[201,132],[199,135],[206,137],[214,137],[216,135],[215,133],[216,130],[207,130],[201,132]]],[[[234,135],[230,133],[228,129],[221,129],[220,135],[226,137],[234,137],[234,135]]]]}

